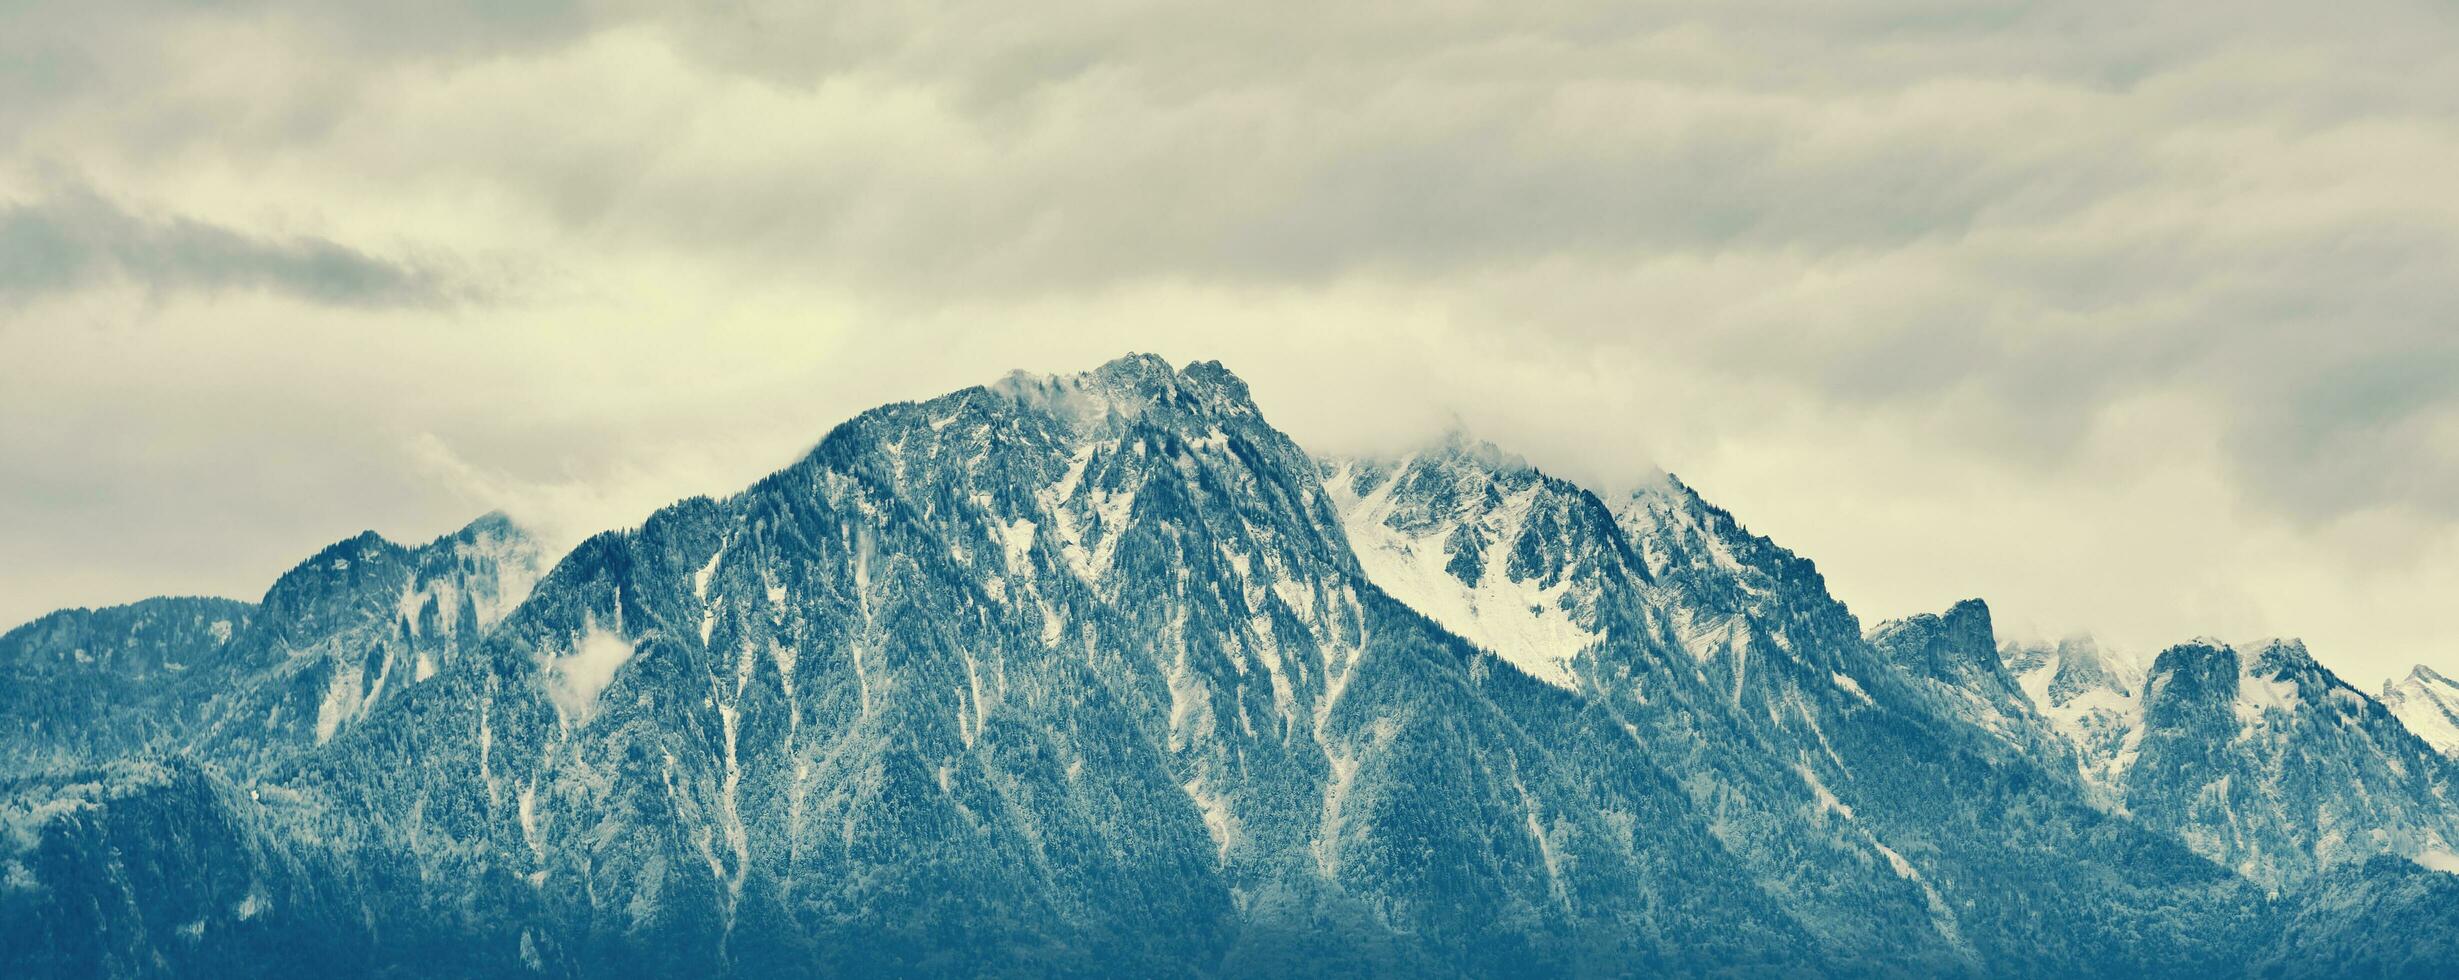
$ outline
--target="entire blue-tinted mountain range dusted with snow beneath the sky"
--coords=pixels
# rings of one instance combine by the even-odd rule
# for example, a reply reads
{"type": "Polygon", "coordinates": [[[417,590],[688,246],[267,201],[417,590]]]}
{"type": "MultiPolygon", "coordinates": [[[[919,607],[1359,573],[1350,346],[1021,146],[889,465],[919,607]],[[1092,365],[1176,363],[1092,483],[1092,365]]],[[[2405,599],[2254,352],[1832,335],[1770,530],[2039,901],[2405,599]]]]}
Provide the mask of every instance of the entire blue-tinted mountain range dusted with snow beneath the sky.
{"type": "Polygon", "coordinates": [[[1220,364],[868,410],[548,555],[0,636],[0,970],[2454,975],[2459,685],[1866,626],[1675,476],[1220,364]]]}

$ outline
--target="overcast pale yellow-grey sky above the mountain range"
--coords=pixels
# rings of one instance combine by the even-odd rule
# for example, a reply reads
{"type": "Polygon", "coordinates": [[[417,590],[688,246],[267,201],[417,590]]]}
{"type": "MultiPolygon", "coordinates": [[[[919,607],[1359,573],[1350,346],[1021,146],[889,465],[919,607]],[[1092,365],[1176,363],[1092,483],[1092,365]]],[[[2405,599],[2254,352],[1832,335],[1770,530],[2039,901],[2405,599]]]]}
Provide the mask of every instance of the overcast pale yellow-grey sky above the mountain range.
{"type": "Polygon", "coordinates": [[[1136,349],[1864,621],[2459,673],[2449,2],[664,7],[0,0],[0,626],[1136,349]]]}

